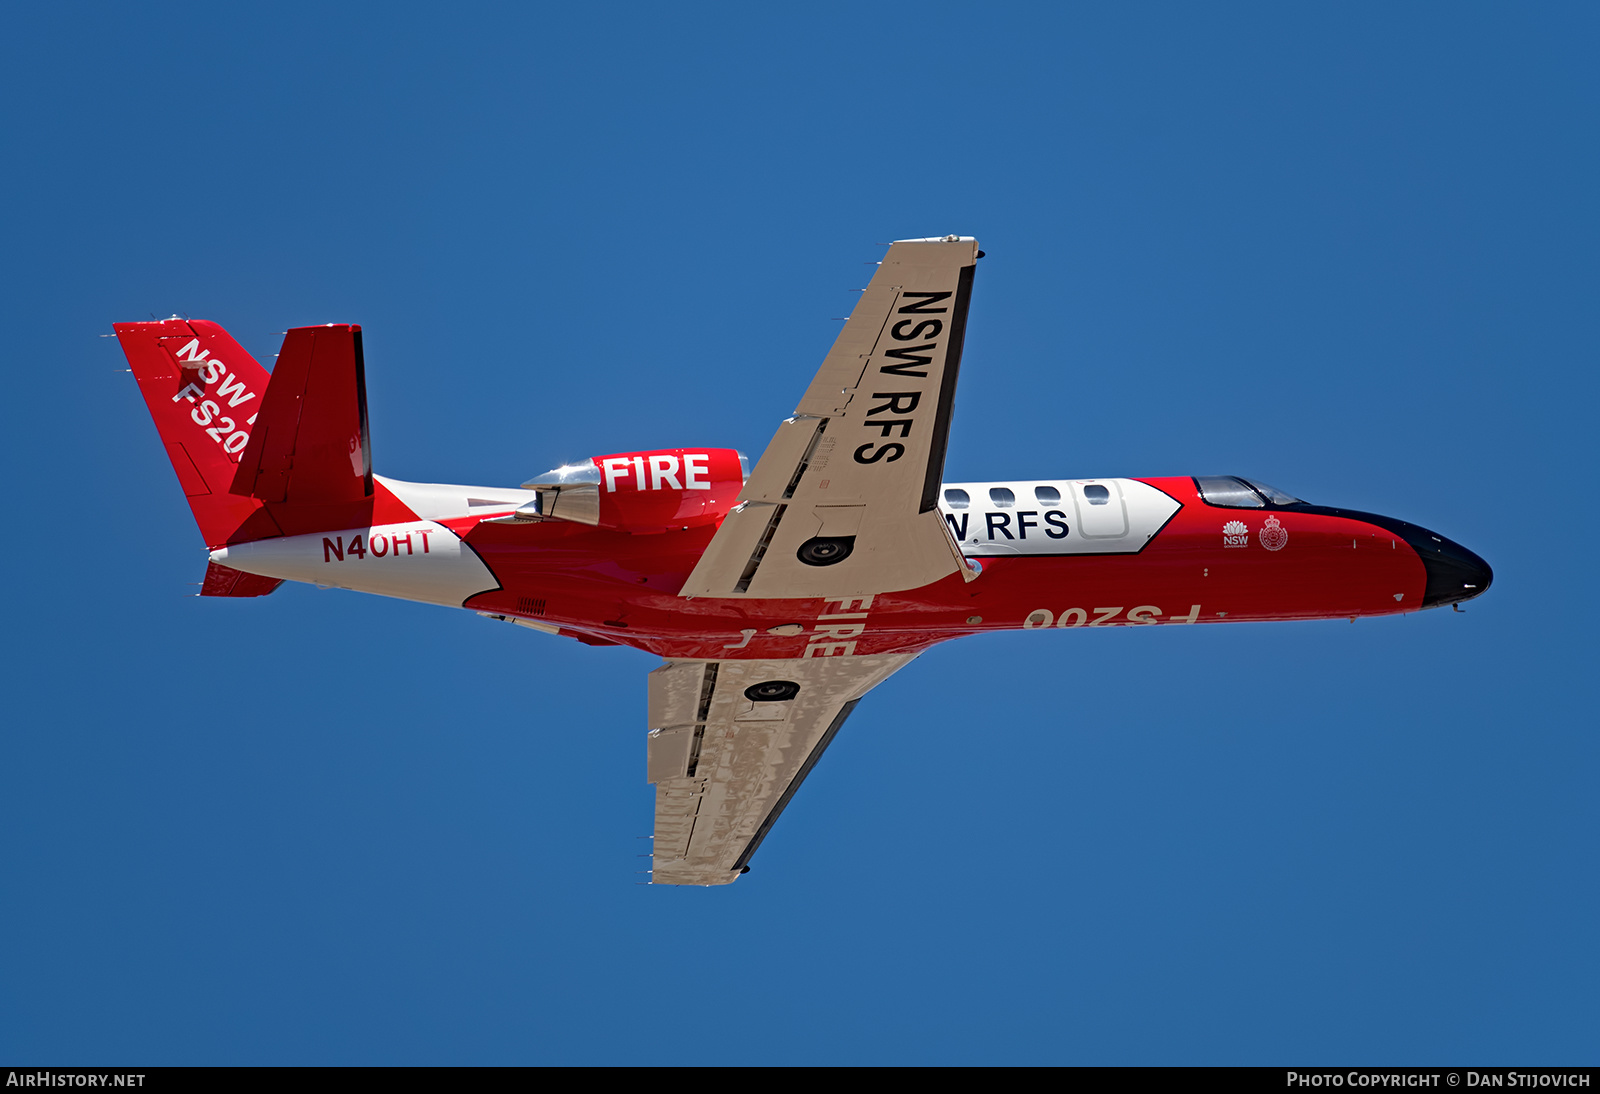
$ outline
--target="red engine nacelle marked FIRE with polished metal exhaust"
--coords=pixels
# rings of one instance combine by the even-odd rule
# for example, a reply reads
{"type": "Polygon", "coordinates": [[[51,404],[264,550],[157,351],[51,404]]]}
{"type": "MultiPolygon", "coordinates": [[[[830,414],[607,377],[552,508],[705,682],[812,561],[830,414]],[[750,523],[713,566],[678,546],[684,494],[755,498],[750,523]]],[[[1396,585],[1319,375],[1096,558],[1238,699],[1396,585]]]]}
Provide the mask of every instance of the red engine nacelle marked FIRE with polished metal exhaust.
{"type": "Polygon", "coordinates": [[[538,501],[507,521],[571,520],[635,536],[712,525],[733,509],[749,462],[731,448],[595,456],[539,475],[538,501]]]}

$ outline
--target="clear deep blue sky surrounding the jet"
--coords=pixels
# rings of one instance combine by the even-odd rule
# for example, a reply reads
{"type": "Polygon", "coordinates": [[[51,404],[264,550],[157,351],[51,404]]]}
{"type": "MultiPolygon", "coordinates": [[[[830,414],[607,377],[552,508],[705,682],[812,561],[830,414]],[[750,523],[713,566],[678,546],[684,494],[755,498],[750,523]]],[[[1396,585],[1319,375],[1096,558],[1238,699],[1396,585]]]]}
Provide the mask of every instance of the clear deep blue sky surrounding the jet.
{"type": "Polygon", "coordinates": [[[0,43],[0,1056],[1595,1062],[1587,5],[214,5],[0,43]],[[947,478],[1245,473],[1464,614],[992,635],[720,891],[637,886],[654,659],[205,557],[112,339],[365,328],[373,454],[762,449],[978,235],[947,478]]]}

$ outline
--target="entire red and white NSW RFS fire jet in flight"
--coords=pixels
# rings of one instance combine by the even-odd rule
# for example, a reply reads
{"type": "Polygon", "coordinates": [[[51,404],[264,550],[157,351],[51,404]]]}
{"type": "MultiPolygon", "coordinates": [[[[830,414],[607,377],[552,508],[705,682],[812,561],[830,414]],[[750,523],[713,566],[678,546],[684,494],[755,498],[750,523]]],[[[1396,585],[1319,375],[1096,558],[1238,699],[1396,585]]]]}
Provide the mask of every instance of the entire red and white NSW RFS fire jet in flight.
{"type": "Polygon", "coordinates": [[[645,750],[654,883],[749,868],[880,681],[982,630],[1384,616],[1488,565],[1253,478],[944,481],[976,240],[901,240],[754,470],[598,454],[520,486],[373,473],[362,329],[288,331],[269,376],[216,323],[117,334],[210,549],[208,597],[285,581],[664,657],[645,750]]]}

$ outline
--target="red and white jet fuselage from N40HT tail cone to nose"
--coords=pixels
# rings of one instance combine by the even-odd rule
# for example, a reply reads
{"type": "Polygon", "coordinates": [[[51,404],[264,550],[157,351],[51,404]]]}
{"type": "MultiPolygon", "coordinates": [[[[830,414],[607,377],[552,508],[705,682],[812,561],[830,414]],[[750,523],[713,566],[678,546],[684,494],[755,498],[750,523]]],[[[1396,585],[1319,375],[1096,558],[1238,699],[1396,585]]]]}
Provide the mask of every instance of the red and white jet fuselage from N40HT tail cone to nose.
{"type": "MultiPolygon", "coordinates": [[[[682,453],[632,459],[662,456],[682,453]]],[[[378,485],[389,494],[384,523],[221,545],[211,560],[675,659],[848,657],[986,630],[1389,616],[1464,600],[1490,581],[1485,569],[1429,600],[1438,552],[1413,541],[1448,541],[1400,521],[1299,502],[1269,509],[1264,499],[1222,509],[1189,477],[1083,478],[947,483],[941,512],[982,566],[971,582],[952,574],[875,593],[850,613],[819,598],[683,600],[714,520],[642,534],[560,518],[507,523],[531,491],[378,485]],[[838,614],[851,617],[822,619],[838,614]]],[[[670,478],[638,493],[674,504],[690,496],[670,478]]],[[[733,496],[723,491],[723,512],[733,496]]]]}

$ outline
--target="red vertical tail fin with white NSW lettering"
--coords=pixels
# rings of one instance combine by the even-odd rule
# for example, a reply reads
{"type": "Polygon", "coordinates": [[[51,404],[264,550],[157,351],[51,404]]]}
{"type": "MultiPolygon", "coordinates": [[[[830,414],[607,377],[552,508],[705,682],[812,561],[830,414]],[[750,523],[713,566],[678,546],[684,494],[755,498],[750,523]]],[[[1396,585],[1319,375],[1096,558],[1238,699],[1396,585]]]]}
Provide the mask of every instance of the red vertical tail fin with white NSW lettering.
{"type": "Polygon", "coordinates": [[[206,545],[280,534],[258,499],[229,493],[267,371],[216,323],[114,326],[206,545]]]}

